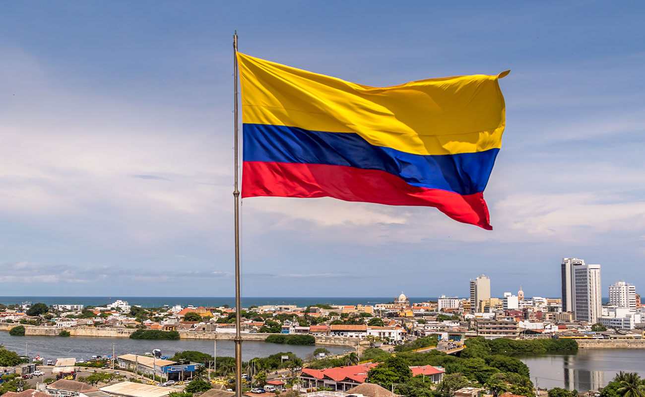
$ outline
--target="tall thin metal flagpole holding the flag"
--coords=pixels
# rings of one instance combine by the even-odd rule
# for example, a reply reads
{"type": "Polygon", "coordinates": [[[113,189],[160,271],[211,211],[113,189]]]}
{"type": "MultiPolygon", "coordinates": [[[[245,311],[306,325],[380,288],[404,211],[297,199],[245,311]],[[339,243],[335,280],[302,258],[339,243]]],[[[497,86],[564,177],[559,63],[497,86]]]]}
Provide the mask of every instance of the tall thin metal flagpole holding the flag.
{"type": "Polygon", "coordinates": [[[233,84],[235,85],[235,190],[233,190],[233,198],[235,201],[235,397],[242,397],[242,334],[241,334],[241,288],[240,288],[240,224],[239,224],[239,205],[240,205],[240,192],[238,189],[238,165],[237,165],[237,30],[233,35],[233,84]]]}

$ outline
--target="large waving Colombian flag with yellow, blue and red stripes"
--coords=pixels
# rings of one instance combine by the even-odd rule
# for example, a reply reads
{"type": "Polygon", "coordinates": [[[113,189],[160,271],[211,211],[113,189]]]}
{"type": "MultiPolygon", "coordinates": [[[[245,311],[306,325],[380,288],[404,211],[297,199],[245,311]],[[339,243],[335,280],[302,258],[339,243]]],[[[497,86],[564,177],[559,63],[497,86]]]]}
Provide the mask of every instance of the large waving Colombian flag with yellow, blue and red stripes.
{"type": "Polygon", "coordinates": [[[508,72],[370,87],[237,60],[243,198],[421,205],[492,229],[482,192],[502,143],[508,72]]]}

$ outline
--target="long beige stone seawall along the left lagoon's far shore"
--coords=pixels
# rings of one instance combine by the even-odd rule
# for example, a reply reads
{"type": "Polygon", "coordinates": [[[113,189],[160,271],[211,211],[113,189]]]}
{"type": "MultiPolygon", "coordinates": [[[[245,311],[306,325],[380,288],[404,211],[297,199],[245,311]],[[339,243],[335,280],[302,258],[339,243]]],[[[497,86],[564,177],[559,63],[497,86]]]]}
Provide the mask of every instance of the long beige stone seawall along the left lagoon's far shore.
{"type": "MultiPolygon", "coordinates": [[[[0,323],[0,331],[9,331],[18,323],[0,323]]],[[[125,328],[94,328],[94,327],[44,327],[35,325],[23,325],[25,327],[25,336],[58,336],[64,329],[70,332],[70,336],[87,336],[90,338],[130,338],[135,329],[125,328]]],[[[179,338],[185,340],[233,340],[235,332],[210,332],[210,331],[178,331],[179,338]]],[[[264,341],[271,334],[260,334],[251,332],[242,332],[242,339],[248,341],[264,341]]],[[[352,346],[355,347],[357,340],[354,338],[343,338],[342,336],[315,336],[317,345],[330,346],[352,346]]]]}

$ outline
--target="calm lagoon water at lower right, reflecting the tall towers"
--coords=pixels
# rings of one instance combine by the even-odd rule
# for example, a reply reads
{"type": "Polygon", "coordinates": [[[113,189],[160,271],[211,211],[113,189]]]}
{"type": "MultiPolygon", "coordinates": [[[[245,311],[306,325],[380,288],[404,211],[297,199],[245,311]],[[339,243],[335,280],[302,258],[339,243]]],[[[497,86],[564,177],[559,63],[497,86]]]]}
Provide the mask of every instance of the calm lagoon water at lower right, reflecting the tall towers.
{"type": "Polygon", "coordinates": [[[541,354],[518,357],[528,365],[539,387],[597,390],[619,371],[645,376],[645,349],[582,349],[576,354],[541,354]]]}

